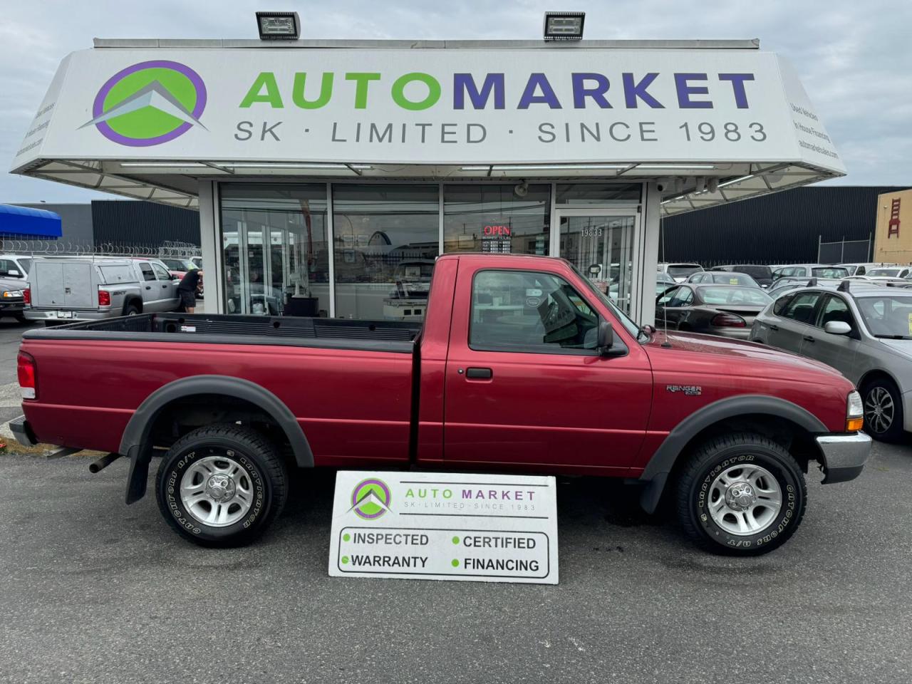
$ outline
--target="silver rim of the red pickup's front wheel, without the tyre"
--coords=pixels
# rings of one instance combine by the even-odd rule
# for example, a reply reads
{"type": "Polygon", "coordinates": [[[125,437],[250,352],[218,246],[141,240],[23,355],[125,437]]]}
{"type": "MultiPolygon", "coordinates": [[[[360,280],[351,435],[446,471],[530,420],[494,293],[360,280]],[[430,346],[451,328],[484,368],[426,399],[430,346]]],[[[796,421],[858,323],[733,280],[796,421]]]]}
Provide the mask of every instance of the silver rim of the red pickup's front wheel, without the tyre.
{"type": "Polygon", "coordinates": [[[765,468],[731,466],[710,485],[710,517],[728,534],[747,536],[769,527],[782,509],[782,489],[765,468]]]}

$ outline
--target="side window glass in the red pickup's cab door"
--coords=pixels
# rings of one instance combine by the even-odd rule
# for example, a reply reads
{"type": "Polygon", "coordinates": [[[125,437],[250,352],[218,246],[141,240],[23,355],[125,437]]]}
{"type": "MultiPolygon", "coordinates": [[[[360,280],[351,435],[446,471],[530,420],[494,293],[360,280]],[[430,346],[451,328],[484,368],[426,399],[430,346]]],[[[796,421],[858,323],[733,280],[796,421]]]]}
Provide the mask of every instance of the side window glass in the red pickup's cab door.
{"type": "Polygon", "coordinates": [[[595,309],[560,276],[481,271],[472,282],[472,349],[595,354],[597,329],[595,309]]]}

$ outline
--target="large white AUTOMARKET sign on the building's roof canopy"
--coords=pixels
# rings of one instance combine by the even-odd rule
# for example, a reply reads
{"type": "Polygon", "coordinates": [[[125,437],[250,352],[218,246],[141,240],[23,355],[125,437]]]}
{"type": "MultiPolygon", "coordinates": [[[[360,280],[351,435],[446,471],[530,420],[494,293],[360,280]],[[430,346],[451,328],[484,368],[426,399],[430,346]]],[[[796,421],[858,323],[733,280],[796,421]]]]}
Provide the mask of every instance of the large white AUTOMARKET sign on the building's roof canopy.
{"type": "Polygon", "coordinates": [[[843,171],[801,83],[755,50],[95,49],[14,162],[808,161],[843,171]]]}

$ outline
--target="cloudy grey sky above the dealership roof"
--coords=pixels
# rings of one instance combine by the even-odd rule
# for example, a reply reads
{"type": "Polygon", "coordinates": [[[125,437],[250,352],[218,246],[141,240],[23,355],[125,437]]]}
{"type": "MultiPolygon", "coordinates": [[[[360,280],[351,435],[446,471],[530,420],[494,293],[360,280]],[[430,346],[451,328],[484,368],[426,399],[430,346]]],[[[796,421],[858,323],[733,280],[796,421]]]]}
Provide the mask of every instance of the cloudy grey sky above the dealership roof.
{"type": "Polygon", "coordinates": [[[296,9],[306,38],[527,38],[545,10],[586,11],[587,38],[753,38],[789,57],[848,176],[912,184],[908,0],[5,0],[0,19],[0,202],[107,197],[5,173],[61,57],[93,37],[255,38],[256,9],[296,9]]]}

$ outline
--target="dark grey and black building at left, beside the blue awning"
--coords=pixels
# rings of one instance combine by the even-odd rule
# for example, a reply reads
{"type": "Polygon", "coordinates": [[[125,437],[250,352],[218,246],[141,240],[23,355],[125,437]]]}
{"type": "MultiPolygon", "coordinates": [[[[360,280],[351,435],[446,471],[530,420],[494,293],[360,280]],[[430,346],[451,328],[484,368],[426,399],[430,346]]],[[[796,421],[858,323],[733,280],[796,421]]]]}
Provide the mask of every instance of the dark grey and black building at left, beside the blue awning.
{"type": "MultiPolygon", "coordinates": [[[[19,204],[45,209],[60,216],[63,234],[54,241],[60,251],[78,252],[96,247],[114,252],[154,250],[165,242],[200,244],[200,213],[157,202],[93,200],[84,204],[19,204]]],[[[3,233],[0,226],[0,233],[3,233]]],[[[4,239],[5,251],[41,251],[47,240],[4,239]]]]}

